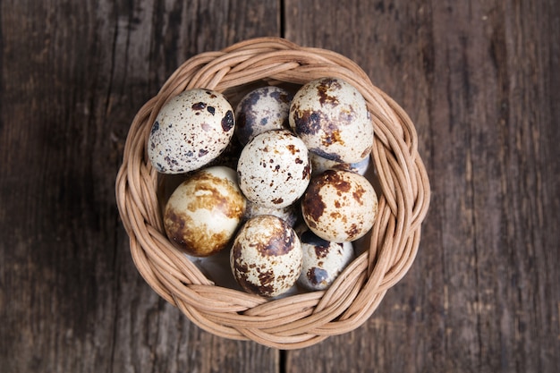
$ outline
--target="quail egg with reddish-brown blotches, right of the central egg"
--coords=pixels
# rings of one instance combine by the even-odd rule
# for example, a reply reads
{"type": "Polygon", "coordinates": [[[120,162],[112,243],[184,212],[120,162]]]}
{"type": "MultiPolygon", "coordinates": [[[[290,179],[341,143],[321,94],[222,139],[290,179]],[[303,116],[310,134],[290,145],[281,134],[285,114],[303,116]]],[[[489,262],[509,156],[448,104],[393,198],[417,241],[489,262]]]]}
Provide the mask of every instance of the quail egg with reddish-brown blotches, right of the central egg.
{"type": "Polygon", "coordinates": [[[351,242],[368,233],[378,211],[378,197],[364,176],[327,170],[311,179],[301,199],[301,213],[313,233],[332,242],[351,242]]]}

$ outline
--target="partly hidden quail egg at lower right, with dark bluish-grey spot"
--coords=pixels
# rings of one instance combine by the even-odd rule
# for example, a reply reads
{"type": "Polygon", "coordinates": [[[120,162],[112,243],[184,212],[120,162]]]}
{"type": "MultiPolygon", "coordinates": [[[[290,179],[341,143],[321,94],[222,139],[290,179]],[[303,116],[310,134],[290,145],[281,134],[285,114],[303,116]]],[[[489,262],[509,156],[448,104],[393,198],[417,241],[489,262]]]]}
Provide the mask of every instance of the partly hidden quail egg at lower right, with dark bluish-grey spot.
{"type": "Polygon", "coordinates": [[[352,242],[330,242],[310,230],[300,236],[303,259],[298,284],[308,290],[325,290],[354,259],[352,242]]]}

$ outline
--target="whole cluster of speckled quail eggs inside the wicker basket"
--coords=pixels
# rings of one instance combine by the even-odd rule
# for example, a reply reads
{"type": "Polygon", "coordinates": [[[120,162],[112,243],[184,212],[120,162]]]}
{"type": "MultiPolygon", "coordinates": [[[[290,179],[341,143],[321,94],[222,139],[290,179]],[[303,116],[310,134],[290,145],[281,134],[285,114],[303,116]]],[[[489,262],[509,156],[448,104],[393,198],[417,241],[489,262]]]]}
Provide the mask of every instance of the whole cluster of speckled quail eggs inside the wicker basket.
{"type": "Polygon", "coordinates": [[[229,248],[247,292],[326,289],[374,223],[373,126],[344,80],[254,89],[235,110],[219,92],[188,89],[160,109],[147,145],[159,173],[186,175],[165,202],[169,240],[193,257],[229,248]]]}

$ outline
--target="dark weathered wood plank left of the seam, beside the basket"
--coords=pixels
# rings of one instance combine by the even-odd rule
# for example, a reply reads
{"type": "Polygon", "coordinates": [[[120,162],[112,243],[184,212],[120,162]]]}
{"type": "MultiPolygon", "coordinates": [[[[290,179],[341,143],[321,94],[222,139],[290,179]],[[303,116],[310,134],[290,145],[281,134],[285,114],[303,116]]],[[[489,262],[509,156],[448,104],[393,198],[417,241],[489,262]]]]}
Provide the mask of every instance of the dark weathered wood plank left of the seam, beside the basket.
{"type": "Polygon", "coordinates": [[[0,364],[20,371],[277,371],[138,275],[115,207],[133,115],[199,52],[279,35],[277,4],[0,4],[0,364]]]}

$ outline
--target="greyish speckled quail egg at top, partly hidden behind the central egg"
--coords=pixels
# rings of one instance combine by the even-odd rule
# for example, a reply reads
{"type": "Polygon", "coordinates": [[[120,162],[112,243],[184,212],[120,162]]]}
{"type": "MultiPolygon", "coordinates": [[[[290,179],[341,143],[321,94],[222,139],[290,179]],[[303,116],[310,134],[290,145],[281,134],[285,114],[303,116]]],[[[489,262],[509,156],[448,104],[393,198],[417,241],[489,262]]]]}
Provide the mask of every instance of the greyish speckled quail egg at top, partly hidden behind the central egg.
{"type": "Polygon", "coordinates": [[[290,128],[288,112],[293,94],[276,86],[250,91],[235,107],[235,134],[242,145],[259,133],[290,128]]]}

